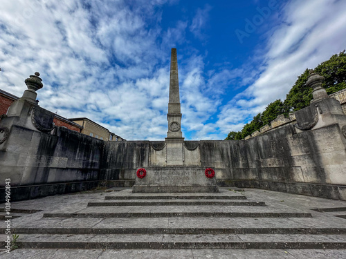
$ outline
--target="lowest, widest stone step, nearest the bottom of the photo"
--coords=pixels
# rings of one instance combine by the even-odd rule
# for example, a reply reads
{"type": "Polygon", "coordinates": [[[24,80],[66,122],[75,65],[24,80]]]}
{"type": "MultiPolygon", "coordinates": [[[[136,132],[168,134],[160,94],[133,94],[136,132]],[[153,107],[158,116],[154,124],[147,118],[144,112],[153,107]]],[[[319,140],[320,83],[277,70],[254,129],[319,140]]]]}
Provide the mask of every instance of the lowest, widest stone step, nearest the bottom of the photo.
{"type": "Polygon", "coordinates": [[[25,235],[24,249],[346,249],[346,235],[25,235]]]}

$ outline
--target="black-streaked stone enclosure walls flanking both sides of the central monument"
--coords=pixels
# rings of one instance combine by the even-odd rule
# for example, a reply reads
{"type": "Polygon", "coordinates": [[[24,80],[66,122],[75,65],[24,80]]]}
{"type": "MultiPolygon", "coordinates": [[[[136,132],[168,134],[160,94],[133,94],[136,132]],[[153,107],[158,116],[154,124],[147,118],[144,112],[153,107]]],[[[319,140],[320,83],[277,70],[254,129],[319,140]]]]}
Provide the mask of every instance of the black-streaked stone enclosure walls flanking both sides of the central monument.
{"type": "MultiPolygon", "coordinates": [[[[97,181],[135,180],[138,168],[149,167],[155,144],[163,148],[156,142],[102,142],[66,128],[48,135],[13,126],[0,145],[1,178],[10,175],[12,186],[26,185],[19,199],[83,190],[97,181]],[[28,196],[32,192],[38,195],[28,196]]],[[[247,141],[189,145],[184,142],[186,151],[197,152],[192,157],[215,169],[218,180],[346,200],[346,139],[337,124],[302,133],[290,125],[247,141]]]]}

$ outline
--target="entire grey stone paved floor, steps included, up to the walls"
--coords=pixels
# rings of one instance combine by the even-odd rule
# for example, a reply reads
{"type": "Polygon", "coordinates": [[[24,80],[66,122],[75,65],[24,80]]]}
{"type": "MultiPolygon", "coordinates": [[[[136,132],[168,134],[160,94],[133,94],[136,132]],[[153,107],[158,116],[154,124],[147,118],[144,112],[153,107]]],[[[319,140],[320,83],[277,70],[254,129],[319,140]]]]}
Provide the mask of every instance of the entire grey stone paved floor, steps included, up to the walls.
{"type": "Polygon", "coordinates": [[[13,202],[12,212],[21,248],[0,258],[346,258],[346,202],[304,195],[122,189],[13,202]]]}

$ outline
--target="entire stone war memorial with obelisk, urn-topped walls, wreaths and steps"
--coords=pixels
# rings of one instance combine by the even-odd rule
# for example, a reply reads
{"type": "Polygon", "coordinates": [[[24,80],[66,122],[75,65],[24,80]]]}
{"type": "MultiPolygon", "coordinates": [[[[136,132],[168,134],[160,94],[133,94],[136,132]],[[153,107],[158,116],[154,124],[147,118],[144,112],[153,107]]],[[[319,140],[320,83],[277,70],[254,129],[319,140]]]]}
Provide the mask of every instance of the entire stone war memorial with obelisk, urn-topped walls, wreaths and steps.
{"type": "Polygon", "coordinates": [[[0,120],[19,235],[1,256],[345,258],[346,115],[323,80],[311,71],[310,106],[246,140],[185,141],[173,48],[165,140],[107,142],[55,126],[30,75],[0,120]]]}

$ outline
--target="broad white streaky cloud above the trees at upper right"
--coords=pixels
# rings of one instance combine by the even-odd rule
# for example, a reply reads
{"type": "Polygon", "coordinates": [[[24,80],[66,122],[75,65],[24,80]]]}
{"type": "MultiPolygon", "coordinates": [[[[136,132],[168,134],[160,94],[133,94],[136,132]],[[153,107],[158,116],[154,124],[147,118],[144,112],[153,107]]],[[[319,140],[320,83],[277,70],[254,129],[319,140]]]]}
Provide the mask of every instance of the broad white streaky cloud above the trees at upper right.
{"type": "Polygon", "coordinates": [[[282,10],[280,26],[268,38],[260,75],[243,93],[221,108],[217,125],[224,133],[239,129],[245,118],[284,99],[297,76],[345,49],[346,2],[290,1],[282,10]],[[239,124],[240,123],[240,124],[239,124]],[[226,130],[225,130],[226,129],[226,130]]]}

